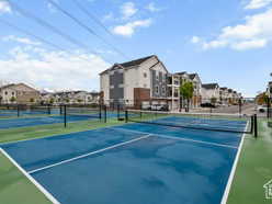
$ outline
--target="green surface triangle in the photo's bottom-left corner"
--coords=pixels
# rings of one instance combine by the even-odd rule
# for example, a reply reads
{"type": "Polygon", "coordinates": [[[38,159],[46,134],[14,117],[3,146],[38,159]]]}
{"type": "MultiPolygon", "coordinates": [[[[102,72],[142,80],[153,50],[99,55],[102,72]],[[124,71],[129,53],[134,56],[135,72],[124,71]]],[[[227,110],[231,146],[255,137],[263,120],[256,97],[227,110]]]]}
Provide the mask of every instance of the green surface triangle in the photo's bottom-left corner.
{"type": "Polygon", "coordinates": [[[0,203],[49,204],[50,201],[0,152],[0,203]]]}

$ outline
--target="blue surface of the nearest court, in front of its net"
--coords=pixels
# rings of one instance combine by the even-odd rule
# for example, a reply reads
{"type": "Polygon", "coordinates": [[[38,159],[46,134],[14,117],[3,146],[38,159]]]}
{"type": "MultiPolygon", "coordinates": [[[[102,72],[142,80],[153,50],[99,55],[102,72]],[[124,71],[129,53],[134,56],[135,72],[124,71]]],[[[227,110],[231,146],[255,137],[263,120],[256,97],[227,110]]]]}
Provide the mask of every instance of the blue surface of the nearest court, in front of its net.
{"type": "Polygon", "coordinates": [[[65,204],[219,204],[242,135],[126,124],[4,144],[65,204]]]}

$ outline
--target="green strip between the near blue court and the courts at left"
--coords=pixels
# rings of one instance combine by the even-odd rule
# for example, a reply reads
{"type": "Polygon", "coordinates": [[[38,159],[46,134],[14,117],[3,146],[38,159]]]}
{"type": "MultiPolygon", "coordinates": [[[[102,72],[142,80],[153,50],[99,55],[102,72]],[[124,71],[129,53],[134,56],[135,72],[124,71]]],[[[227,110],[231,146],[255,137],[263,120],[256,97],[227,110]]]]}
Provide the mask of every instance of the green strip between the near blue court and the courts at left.
{"type": "Polygon", "coordinates": [[[120,125],[122,122],[117,120],[107,120],[107,123],[99,121],[83,121],[77,123],[68,123],[67,128],[63,123],[52,125],[37,125],[31,127],[20,127],[0,131],[0,144],[8,141],[16,141],[23,139],[41,138],[46,136],[61,135],[75,132],[89,131],[99,127],[120,125]]]}

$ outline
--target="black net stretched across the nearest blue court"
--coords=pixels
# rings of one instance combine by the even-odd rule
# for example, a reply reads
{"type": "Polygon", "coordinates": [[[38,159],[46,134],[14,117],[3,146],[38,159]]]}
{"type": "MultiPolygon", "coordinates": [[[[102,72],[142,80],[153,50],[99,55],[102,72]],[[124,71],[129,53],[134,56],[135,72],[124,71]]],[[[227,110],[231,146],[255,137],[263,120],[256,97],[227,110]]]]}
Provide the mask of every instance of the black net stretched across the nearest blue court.
{"type": "Polygon", "coordinates": [[[190,129],[252,134],[254,116],[217,113],[170,113],[127,110],[126,122],[190,129]]]}

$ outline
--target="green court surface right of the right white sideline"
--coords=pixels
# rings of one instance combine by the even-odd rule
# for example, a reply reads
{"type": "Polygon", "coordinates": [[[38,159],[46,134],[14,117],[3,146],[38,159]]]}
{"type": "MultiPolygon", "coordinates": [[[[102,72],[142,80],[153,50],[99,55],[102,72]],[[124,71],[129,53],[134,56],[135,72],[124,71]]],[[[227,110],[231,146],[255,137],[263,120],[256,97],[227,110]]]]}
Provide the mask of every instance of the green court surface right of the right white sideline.
{"type": "Polygon", "coordinates": [[[263,184],[272,179],[272,128],[259,121],[259,137],[246,137],[227,204],[267,204],[263,184]]]}

